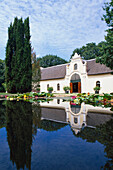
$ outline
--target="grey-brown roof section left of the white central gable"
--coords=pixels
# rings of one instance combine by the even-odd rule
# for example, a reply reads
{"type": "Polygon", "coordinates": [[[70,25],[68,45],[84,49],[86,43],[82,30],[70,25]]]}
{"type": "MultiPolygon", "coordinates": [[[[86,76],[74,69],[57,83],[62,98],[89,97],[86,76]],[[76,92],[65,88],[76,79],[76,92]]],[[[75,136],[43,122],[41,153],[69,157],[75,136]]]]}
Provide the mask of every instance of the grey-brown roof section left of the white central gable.
{"type": "Polygon", "coordinates": [[[64,78],[66,75],[66,65],[57,65],[41,69],[41,80],[64,78]]]}

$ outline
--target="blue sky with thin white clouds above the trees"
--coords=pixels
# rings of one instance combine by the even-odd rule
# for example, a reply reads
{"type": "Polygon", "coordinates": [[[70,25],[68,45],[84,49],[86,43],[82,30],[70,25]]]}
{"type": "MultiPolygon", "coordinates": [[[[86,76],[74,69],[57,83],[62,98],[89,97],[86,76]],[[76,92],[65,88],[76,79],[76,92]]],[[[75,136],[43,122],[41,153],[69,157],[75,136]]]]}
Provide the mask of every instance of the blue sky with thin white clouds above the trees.
{"type": "Polygon", "coordinates": [[[5,58],[8,27],[29,16],[31,44],[37,56],[54,54],[66,60],[75,48],[104,40],[102,6],[109,0],[0,0],[0,58],[5,58]]]}

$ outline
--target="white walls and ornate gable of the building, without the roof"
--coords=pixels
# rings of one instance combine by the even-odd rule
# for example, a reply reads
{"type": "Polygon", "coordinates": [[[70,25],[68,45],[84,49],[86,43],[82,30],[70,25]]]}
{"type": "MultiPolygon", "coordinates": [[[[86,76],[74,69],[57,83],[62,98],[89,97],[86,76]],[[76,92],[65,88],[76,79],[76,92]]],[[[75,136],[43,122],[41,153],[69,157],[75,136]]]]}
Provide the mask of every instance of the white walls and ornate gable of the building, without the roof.
{"type": "MultiPolygon", "coordinates": [[[[53,67],[59,67],[59,65],[53,67]]],[[[47,92],[49,85],[49,87],[53,87],[53,93],[64,93],[63,87],[71,86],[70,92],[94,93],[93,88],[97,82],[100,82],[100,93],[113,92],[113,75],[111,73],[88,75],[87,61],[82,60],[80,55],[76,53],[70,63],[66,65],[64,78],[42,80],[40,81],[40,88],[41,92],[47,92]]]]}

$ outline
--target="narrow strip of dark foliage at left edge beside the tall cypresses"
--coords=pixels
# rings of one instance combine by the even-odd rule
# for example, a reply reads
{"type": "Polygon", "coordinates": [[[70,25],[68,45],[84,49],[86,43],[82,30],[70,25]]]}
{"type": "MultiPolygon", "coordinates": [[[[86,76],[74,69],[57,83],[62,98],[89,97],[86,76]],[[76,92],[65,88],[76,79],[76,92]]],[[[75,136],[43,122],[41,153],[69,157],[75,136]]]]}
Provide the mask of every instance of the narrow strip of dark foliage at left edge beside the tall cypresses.
{"type": "Polygon", "coordinates": [[[5,92],[3,83],[5,83],[5,63],[0,60],[0,92],[5,92]]]}

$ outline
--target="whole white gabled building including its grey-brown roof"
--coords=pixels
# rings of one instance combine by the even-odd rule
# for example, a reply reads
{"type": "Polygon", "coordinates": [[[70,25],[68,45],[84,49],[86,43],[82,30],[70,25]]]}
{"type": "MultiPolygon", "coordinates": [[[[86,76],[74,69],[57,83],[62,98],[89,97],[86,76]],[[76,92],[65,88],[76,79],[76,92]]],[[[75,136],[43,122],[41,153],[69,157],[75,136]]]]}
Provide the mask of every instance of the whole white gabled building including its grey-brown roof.
{"type": "Polygon", "coordinates": [[[64,93],[63,87],[70,86],[70,93],[94,93],[100,86],[100,93],[113,92],[113,70],[95,59],[82,60],[77,53],[70,63],[41,69],[41,92],[53,87],[53,93],[64,93]]]}

